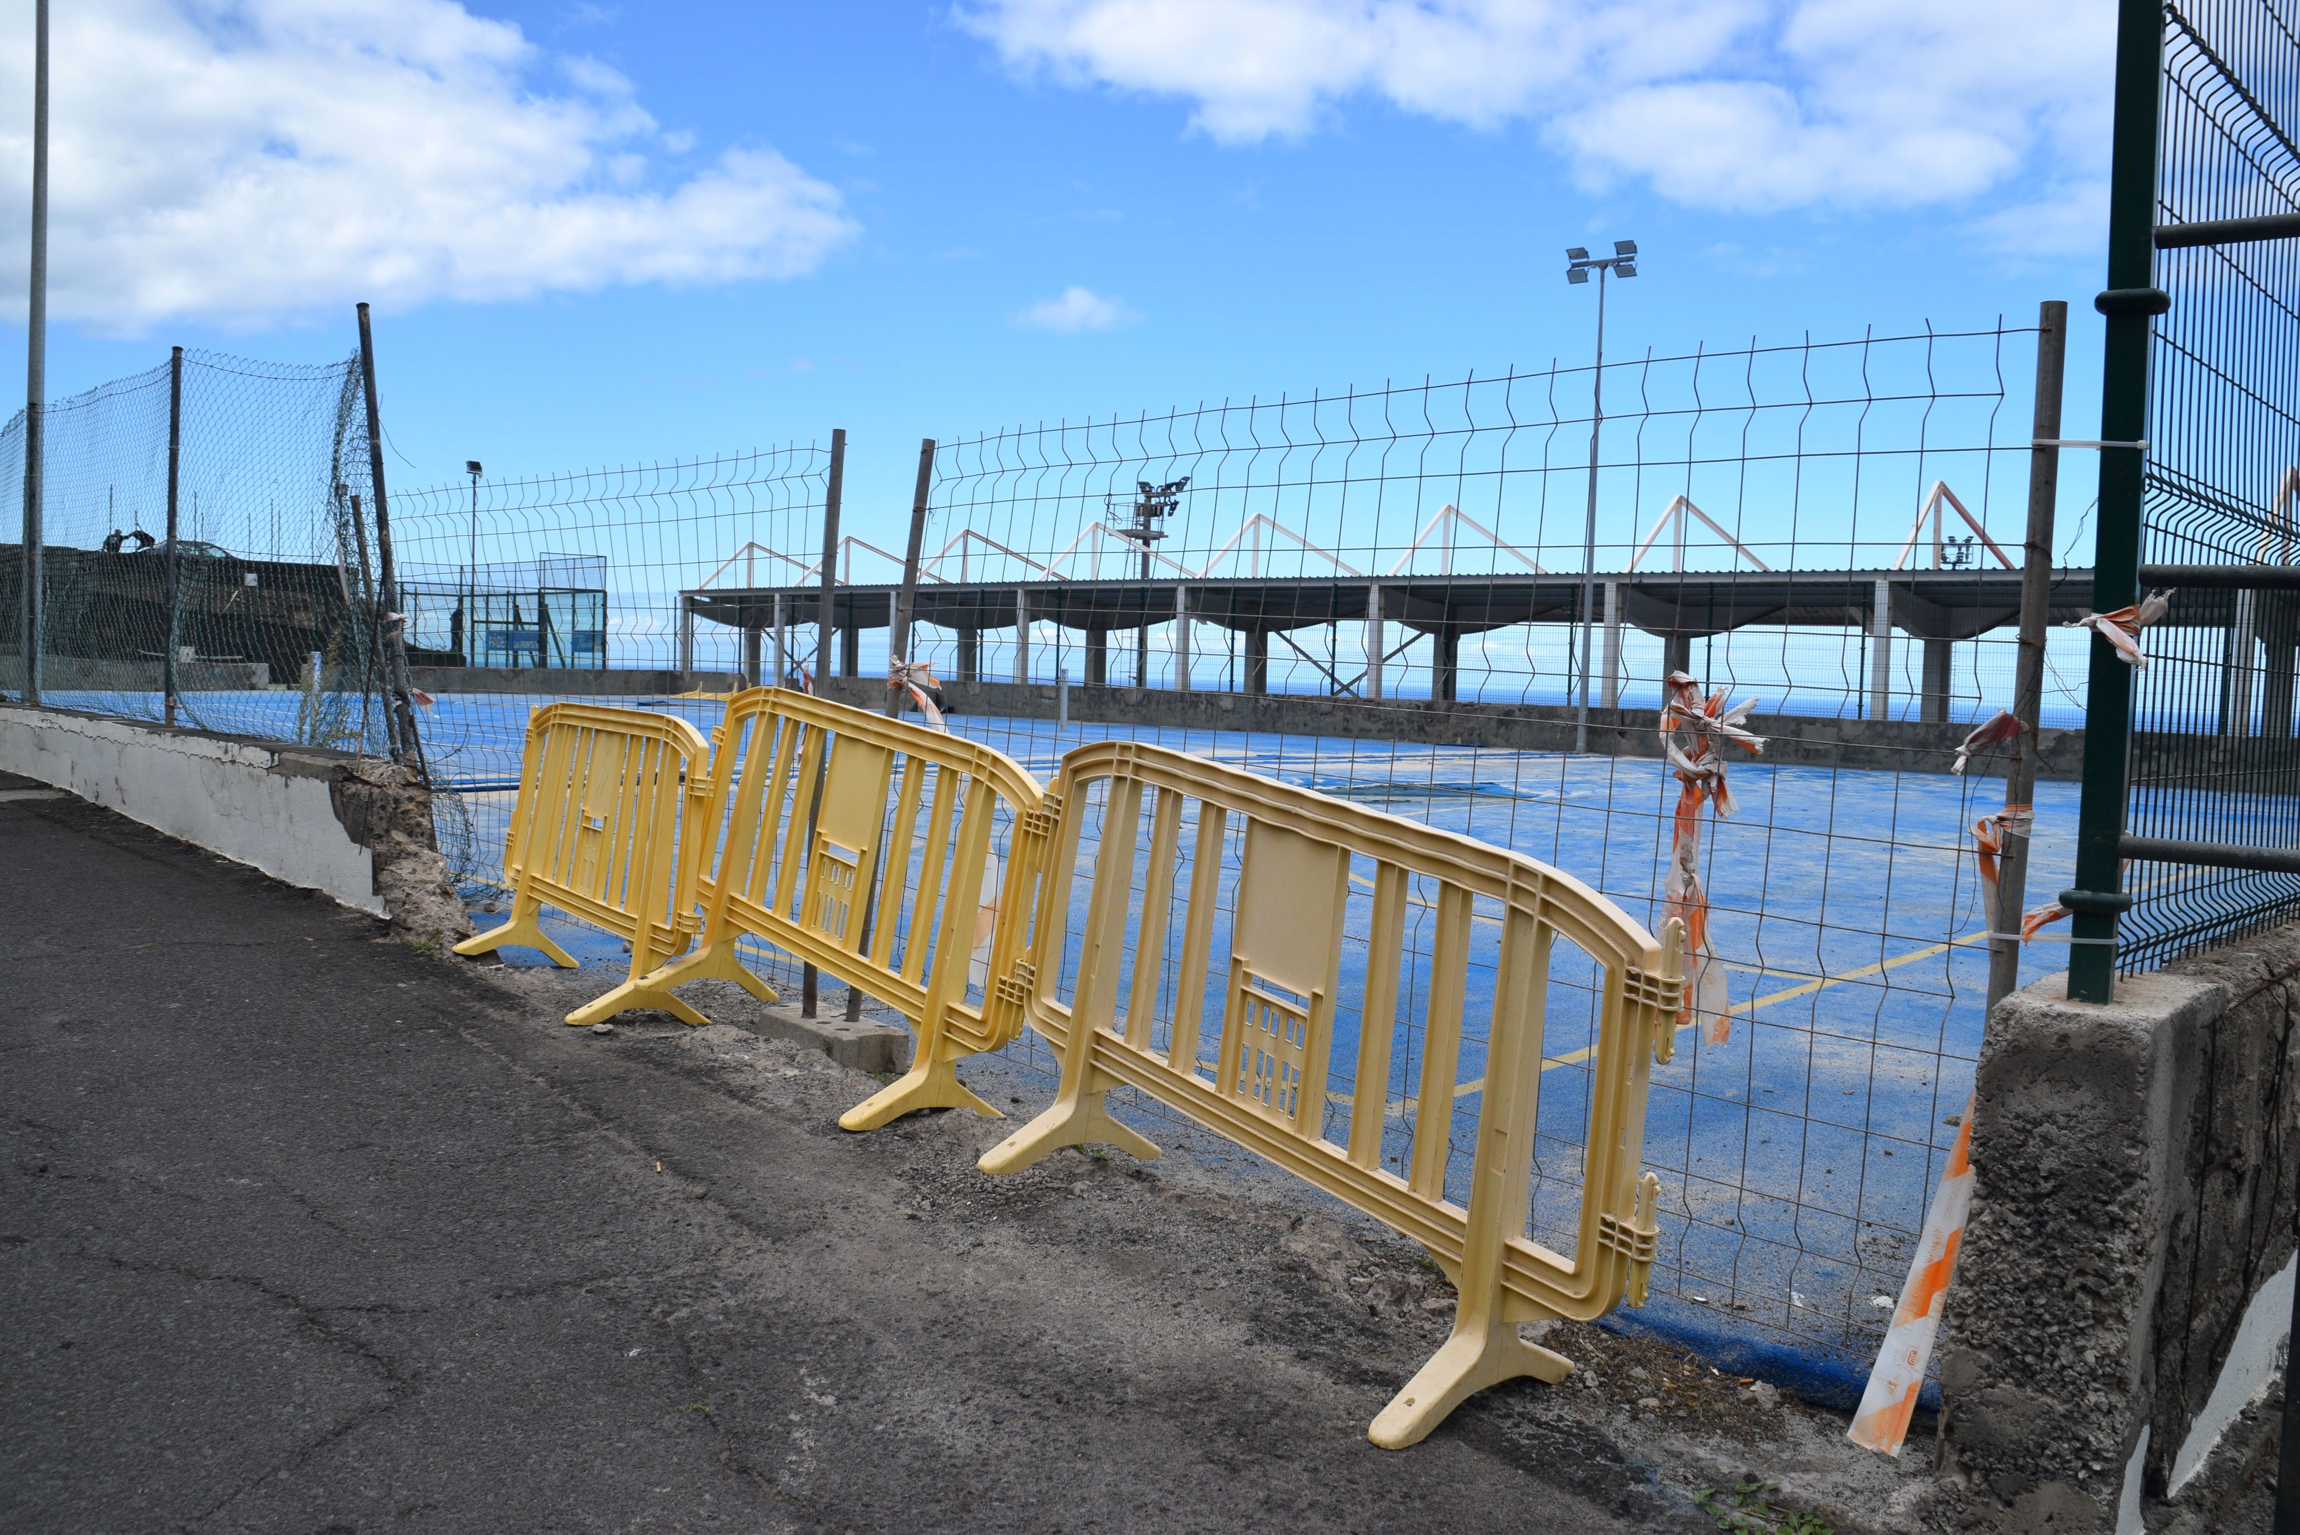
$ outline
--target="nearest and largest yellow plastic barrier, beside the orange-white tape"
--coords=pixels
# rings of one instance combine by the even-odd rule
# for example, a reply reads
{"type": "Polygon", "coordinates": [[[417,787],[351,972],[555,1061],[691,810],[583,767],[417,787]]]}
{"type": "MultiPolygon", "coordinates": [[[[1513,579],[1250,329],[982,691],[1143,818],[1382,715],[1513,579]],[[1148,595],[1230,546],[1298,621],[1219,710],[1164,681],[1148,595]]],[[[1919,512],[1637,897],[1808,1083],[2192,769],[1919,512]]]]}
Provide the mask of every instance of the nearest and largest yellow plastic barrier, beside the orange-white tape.
{"type": "Polygon", "coordinates": [[[1674,1049],[1681,925],[1672,923],[1667,941],[1656,944],[1589,886],[1520,854],[1198,757],[1109,741],[1063,757],[1049,794],[1060,803],[1060,822],[1046,854],[1035,934],[1049,955],[1063,953],[1070,937],[1070,872],[1097,782],[1106,789],[1079,934],[1076,1001],[1072,1008],[1058,999],[1051,964],[1035,973],[1028,994],[1030,1026],[1063,1052],[1063,1089],[1051,1109],[982,1158],[982,1171],[1017,1171],[1081,1141],[1157,1155],[1157,1146],[1113,1121],[1102,1102],[1111,1086],[1132,1084],[1414,1238],[1456,1282],[1454,1335],[1373,1420],[1373,1443],[1412,1445],[1458,1402],[1511,1376],[1562,1381],[1571,1360],[1523,1342],[1520,1321],[1587,1321],[1610,1312],[1624,1289],[1631,1305],[1644,1303],[1661,1190],[1651,1174],[1638,1176],[1644,1089],[1654,1059],[1667,1061],[1674,1049]],[[1136,842],[1150,794],[1157,799],[1136,904],[1136,842]],[[1196,801],[1196,856],[1187,861],[1175,983],[1162,987],[1189,801],[1196,801]],[[1219,1052],[1208,1079],[1198,1059],[1198,1013],[1230,845],[1240,849],[1235,918],[1214,1022],[1219,1052]],[[1352,854],[1373,861],[1375,875],[1364,980],[1346,992],[1341,957],[1352,854]],[[1456,1075],[1477,900],[1500,909],[1502,932],[1470,1206],[1460,1208],[1444,1199],[1444,1171],[1454,1102],[1465,1091],[1456,1075]],[[1408,978],[1403,990],[1408,1006],[1426,994],[1428,1013],[1410,1158],[1401,1158],[1405,1176],[1398,1176],[1382,1167],[1382,1135],[1410,904],[1426,907],[1435,941],[1426,983],[1408,978]],[[1603,971],[1571,1259],[1525,1236],[1543,1003],[1557,934],[1603,971]],[[1129,937],[1132,953],[1152,960],[1132,967],[1120,1015],[1129,937]],[[1162,1006],[1162,996],[1180,1003],[1162,1006]],[[1364,1040],[1352,1091],[1334,1095],[1350,1109],[1348,1144],[1322,1132],[1336,1010],[1357,1013],[1364,1040]],[[1152,1045],[1159,1022],[1168,1029],[1164,1052],[1152,1045]]]}

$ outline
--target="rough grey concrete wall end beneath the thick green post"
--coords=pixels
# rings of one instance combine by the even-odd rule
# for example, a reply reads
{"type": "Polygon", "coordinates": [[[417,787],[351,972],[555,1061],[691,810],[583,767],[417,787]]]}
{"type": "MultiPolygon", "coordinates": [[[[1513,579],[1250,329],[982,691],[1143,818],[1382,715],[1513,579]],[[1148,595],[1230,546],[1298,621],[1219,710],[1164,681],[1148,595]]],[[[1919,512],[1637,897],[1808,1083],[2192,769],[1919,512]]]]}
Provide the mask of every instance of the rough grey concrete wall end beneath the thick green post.
{"type": "Polygon", "coordinates": [[[2300,930],[1989,1015],[1941,1335],[1950,1528],[2215,1526],[2291,1326],[2300,930]],[[2167,1505],[2160,1507],[2160,1505],[2167,1505]]]}

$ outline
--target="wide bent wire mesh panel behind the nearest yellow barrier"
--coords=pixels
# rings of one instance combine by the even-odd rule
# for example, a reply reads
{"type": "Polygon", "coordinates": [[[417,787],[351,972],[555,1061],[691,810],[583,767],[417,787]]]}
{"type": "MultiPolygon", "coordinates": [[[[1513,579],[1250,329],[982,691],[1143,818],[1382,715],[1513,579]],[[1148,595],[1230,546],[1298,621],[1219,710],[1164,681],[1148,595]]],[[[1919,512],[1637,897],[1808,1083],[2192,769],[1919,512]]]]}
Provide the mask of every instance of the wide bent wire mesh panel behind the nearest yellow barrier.
{"type": "MultiPolygon", "coordinates": [[[[1656,1072],[1647,1137],[1670,1185],[1656,1309],[1725,1346],[1785,1349],[1845,1392],[1980,1045],[1989,923],[1969,828],[2001,792],[1985,762],[1948,769],[2010,702],[2033,350],[2031,329],[1992,327],[1608,366],[1594,476],[1589,368],[945,442],[908,656],[941,679],[952,730],[1042,778],[1076,743],[1152,741],[1516,847],[1654,927],[1697,914],[1709,1003],[1656,1072]],[[1723,785],[1713,764],[1661,759],[1672,672],[1695,697],[1759,704],[1764,755],[1725,746],[1723,785]]],[[[796,573],[810,548],[805,529],[761,568],[796,573]]],[[[759,635],[766,681],[821,663],[828,690],[876,707],[902,562],[846,539],[839,578],[828,608],[812,573],[688,601],[722,644],[759,635]]],[[[2061,571],[2058,617],[2086,605],[2088,573],[2061,571]]],[[[2049,647],[2045,886],[2075,845],[2061,732],[2082,723],[2082,642],[2049,647]]],[[[1138,851],[1143,868],[1155,849],[1138,851]]],[[[1371,879],[1352,881],[1368,900],[1371,879]]],[[[1371,923],[1350,932],[1362,967],[1371,923]]],[[[1433,941],[1417,909],[1408,976],[1428,973],[1433,941]]],[[[1486,948],[1465,1019],[1490,1013],[1486,948]]],[[[1536,1240],[1564,1240],[1557,1213],[1578,1201],[1594,1040],[1587,973],[1566,953],[1557,967],[1536,1240]]],[[[1040,1043],[1010,1056],[1051,1079],[1040,1043]]],[[[1470,1038],[1449,1181],[1467,1169],[1477,1059],[1470,1038]]],[[[1408,1029],[1394,1121],[1426,1098],[1419,1061],[1408,1029]]],[[[1341,1084],[1350,1063],[1334,1070],[1341,1084]]]]}

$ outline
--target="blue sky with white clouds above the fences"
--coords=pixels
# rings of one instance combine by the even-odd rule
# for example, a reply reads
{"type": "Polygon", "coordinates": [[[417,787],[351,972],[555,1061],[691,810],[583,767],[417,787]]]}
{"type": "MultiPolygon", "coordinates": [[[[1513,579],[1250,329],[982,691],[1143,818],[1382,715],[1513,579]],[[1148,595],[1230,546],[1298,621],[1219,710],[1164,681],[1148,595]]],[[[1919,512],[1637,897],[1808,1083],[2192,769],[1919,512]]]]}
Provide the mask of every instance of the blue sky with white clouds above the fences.
{"type": "Polygon", "coordinates": [[[2098,0],[71,9],[51,394],[368,297],[400,481],[844,426],[885,529],[920,435],[1580,359],[1624,235],[1612,354],[2065,297],[2095,407],[2098,0]]]}

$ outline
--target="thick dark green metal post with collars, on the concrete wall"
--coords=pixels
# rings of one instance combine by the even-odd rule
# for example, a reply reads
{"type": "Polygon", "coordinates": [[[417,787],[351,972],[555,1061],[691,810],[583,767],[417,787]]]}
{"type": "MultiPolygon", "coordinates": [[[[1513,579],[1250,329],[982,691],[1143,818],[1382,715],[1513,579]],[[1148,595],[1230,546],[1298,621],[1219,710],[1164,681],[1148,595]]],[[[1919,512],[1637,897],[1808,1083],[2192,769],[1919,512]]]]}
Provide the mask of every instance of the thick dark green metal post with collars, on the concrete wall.
{"type": "MultiPolygon", "coordinates": [[[[2148,435],[2148,331],[2171,301],[2155,288],[2157,115],[2164,9],[2157,0],[2116,7],[2116,129],[2109,166],[2109,285],[2093,299],[2107,315],[2100,357],[2100,520],[2093,525],[2093,612],[2139,596],[2141,490],[2148,435]]],[[[2116,990],[2121,891],[2116,840],[2125,831],[2132,755],[2132,667],[2093,635],[2084,690],[2084,799],[2077,810],[2077,884],[2061,893],[2075,914],[2068,950],[2070,1001],[2109,1001],[2116,990]]]]}

